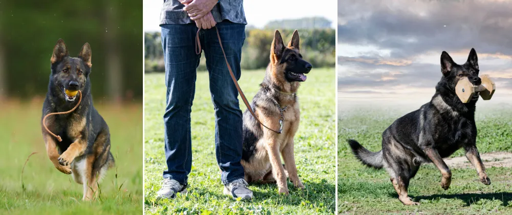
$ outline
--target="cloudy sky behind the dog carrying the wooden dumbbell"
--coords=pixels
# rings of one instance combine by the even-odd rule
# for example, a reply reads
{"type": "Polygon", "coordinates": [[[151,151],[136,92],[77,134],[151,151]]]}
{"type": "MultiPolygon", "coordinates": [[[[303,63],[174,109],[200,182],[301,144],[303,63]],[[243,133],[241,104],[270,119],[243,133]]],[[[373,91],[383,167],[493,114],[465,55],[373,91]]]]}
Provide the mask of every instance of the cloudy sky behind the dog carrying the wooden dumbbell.
{"type": "Polygon", "coordinates": [[[512,100],[512,1],[350,1],[338,4],[338,98],[429,101],[440,56],[466,61],[512,100]]]}

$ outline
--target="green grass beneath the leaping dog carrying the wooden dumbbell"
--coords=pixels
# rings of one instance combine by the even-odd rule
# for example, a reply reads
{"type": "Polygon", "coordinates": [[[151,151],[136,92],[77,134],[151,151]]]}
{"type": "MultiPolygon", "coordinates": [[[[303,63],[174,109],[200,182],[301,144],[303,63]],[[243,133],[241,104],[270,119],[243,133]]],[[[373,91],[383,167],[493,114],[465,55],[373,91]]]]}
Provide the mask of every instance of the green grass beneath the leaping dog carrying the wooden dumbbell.
{"type": "MultiPolygon", "coordinates": [[[[506,167],[487,167],[487,175],[492,181],[488,186],[479,181],[474,168],[452,168],[452,184],[445,191],[440,186],[439,170],[433,164],[423,164],[409,186],[409,196],[421,205],[402,205],[388,173],[361,165],[352,155],[346,139],[356,139],[377,152],[381,149],[382,132],[395,119],[415,109],[403,111],[366,106],[338,112],[339,213],[512,213],[512,169],[506,167]]],[[[480,153],[512,152],[512,109],[510,105],[496,106],[502,108],[477,110],[477,147],[480,153]]],[[[461,149],[452,157],[463,154],[461,149]]]]}

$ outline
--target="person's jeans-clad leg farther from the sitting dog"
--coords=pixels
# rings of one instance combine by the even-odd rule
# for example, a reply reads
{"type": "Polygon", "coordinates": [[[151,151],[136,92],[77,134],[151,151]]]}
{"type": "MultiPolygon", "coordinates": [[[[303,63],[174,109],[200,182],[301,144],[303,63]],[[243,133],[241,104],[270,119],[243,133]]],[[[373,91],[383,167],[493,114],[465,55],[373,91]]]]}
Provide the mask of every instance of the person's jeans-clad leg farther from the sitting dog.
{"type": "Polygon", "coordinates": [[[197,28],[193,24],[161,28],[167,87],[163,116],[167,170],[163,171],[163,178],[184,185],[192,165],[190,112],[200,58],[195,52],[197,28]]]}

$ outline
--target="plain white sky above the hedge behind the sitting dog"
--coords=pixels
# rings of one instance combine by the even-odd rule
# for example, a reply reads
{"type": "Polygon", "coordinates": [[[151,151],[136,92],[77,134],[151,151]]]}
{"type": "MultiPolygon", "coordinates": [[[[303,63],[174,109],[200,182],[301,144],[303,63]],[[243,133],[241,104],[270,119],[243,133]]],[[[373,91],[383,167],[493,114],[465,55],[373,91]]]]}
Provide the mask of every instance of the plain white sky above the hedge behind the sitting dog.
{"type": "MultiPolygon", "coordinates": [[[[144,1],[144,31],[160,31],[158,26],[163,1],[144,1]]],[[[322,1],[316,4],[306,0],[246,0],[244,12],[248,25],[261,28],[269,21],[322,16],[336,26],[336,1],[322,1]]]]}

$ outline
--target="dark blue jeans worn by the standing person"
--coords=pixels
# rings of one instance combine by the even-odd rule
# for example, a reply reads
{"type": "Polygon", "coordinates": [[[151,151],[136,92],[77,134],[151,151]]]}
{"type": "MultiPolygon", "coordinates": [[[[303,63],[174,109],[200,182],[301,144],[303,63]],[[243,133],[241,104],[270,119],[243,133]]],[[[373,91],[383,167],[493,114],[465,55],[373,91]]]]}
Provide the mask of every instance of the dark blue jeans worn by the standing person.
{"type": "MultiPolygon", "coordinates": [[[[245,40],[245,25],[218,23],[222,45],[231,69],[240,78],[240,59],[245,40]]],[[[162,48],[167,87],[165,126],[165,159],[163,178],[185,184],[192,165],[190,113],[196,90],[195,52],[198,28],[194,24],[162,25],[162,48]]],[[[215,150],[223,184],[244,178],[242,159],[242,111],[238,91],[231,80],[219,46],[215,28],[201,30],[201,45],[206,57],[211,100],[215,110],[215,150]]]]}

